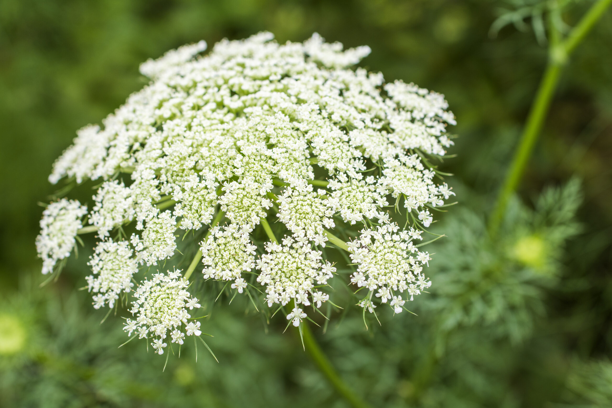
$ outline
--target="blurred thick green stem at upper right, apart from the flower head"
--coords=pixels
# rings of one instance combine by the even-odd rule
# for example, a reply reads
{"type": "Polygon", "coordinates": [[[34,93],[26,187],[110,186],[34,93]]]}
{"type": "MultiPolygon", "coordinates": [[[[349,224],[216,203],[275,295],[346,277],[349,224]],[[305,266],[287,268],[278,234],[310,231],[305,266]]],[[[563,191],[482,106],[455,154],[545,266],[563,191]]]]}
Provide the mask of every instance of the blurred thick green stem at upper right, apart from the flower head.
{"type": "Polygon", "coordinates": [[[554,91],[559,82],[562,66],[565,64],[569,54],[575,50],[578,43],[584,39],[586,34],[588,34],[595,23],[597,23],[597,20],[602,17],[603,12],[610,6],[610,3],[612,3],[612,0],[599,0],[595,2],[595,4],[591,6],[591,9],[581,18],[580,22],[562,42],[556,39],[558,33],[554,32],[555,28],[550,28],[551,31],[553,31],[551,37],[553,37],[554,41],[551,41],[548,65],[540,81],[537,93],[535,94],[534,102],[531,105],[523,134],[521,135],[517,150],[510,163],[506,179],[499,191],[498,198],[493,207],[493,212],[491,212],[488,226],[491,236],[497,234],[501,221],[506,213],[508,201],[514,191],[517,190],[518,184],[523,177],[525,167],[529,157],[531,157],[535,142],[537,141],[542,125],[546,119],[548,108],[550,107],[554,91]]]}

